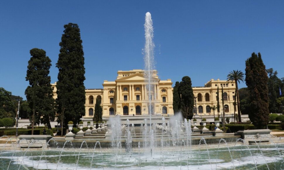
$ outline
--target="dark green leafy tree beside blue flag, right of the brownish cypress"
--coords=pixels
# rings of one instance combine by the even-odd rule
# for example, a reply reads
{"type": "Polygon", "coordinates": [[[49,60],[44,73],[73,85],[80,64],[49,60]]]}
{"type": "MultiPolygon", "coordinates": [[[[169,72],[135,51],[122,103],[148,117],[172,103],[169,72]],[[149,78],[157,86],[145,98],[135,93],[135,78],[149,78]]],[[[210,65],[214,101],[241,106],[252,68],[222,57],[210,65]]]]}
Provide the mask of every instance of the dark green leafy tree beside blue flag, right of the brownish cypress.
{"type": "Polygon", "coordinates": [[[267,69],[266,72],[269,75],[268,79],[268,97],[269,97],[269,112],[280,113],[281,109],[277,105],[277,98],[280,97],[280,90],[283,89],[283,82],[277,77],[277,71],[273,72],[273,68],[267,69]]]}

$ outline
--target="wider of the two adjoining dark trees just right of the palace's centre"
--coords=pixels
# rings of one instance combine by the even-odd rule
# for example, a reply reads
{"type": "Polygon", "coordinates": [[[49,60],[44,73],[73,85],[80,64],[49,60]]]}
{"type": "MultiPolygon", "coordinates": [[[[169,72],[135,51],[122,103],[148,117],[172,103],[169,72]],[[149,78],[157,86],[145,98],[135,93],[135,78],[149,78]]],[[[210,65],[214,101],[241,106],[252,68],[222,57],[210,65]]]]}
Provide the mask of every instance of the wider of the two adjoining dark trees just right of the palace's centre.
{"type": "Polygon", "coordinates": [[[188,76],[182,77],[182,81],[179,82],[179,93],[181,95],[181,112],[183,117],[187,119],[192,119],[194,110],[194,96],[191,85],[191,79],[188,76]]]}

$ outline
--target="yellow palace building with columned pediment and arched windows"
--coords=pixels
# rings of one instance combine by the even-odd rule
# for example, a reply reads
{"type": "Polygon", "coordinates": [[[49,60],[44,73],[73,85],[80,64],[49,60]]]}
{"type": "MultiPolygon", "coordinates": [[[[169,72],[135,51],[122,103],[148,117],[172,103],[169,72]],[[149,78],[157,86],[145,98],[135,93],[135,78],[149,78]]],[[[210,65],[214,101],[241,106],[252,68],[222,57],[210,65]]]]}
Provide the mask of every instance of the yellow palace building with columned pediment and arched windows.
{"type": "MultiPolygon", "coordinates": [[[[154,114],[173,115],[172,100],[173,88],[171,79],[160,80],[157,71],[153,70],[152,85],[150,92],[147,90],[147,79],[143,76],[144,70],[129,70],[117,72],[115,81],[105,80],[102,84],[103,89],[85,90],[85,118],[94,116],[96,99],[101,103],[103,117],[111,115],[120,116],[139,116],[148,115],[150,107],[154,114]],[[152,98],[149,105],[148,98],[152,98]]],[[[217,106],[216,93],[219,86],[221,96],[221,87],[224,90],[224,110],[226,114],[234,113],[235,86],[222,80],[208,81],[204,87],[193,87],[194,96],[196,96],[197,113],[202,115],[213,114],[210,107],[217,106]],[[209,107],[210,106],[210,107],[209,107]]],[[[57,98],[56,83],[52,84],[54,98],[57,98]]],[[[220,100],[220,110],[222,110],[222,101],[220,100]]],[[[217,110],[215,111],[215,113],[217,110]]]]}

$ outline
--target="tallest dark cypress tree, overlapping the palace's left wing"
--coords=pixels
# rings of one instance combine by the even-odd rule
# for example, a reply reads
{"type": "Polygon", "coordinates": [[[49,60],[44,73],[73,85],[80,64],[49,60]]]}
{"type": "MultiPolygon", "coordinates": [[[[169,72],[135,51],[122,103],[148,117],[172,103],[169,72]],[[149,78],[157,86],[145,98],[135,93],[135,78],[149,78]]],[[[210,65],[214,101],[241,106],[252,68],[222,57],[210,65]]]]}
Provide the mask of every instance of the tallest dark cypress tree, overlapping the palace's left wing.
{"type": "Polygon", "coordinates": [[[78,25],[69,23],[64,25],[64,29],[56,64],[59,69],[56,101],[58,120],[67,128],[68,121],[76,124],[85,115],[85,67],[78,25]]]}

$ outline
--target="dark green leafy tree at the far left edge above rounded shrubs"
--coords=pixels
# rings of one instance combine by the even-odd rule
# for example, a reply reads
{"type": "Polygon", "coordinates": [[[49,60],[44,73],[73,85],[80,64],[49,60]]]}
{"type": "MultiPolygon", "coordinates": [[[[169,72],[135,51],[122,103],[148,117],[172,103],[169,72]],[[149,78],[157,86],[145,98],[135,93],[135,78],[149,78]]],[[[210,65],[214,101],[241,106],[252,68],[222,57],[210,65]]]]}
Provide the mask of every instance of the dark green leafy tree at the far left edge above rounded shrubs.
{"type": "Polygon", "coordinates": [[[11,99],[12,93],[0,87],[0,118],[16,117],[15,105],[11,99]]]}

